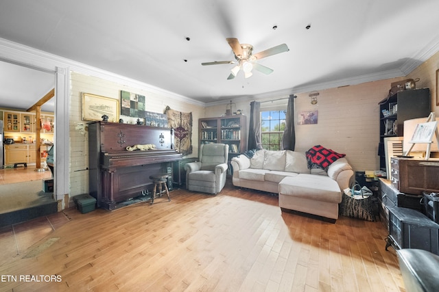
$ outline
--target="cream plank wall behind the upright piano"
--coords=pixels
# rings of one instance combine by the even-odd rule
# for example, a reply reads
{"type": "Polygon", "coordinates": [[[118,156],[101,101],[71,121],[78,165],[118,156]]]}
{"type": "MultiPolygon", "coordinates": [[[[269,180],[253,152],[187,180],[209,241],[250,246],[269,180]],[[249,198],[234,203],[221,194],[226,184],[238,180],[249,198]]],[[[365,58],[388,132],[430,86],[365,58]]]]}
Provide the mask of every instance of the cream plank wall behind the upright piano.
{"type": "MultiPolygon", "coordinates": [[[[169,94],[157,93],[152,90],[133,88],[128,85],[115,83],[98,77],[82,75],[71,72],[70,90],[70,192],[73,197],[78,194],[88,193],[88,132],[87,121],[81,120],[81,94],[82,92],[106,96],[120,100],[120,91],[125,90],[142,94],[146,97],[147,111],[163,113],[166,106],[183,112],[192,112],[193,115],[193,138],[194,154],[198,154],[198,119],[204,115],[204,108],[199,105],[183,103],[178,98],[172,98],[169,94]]],[[[125,122],[129,117],[121,116],[125,122]]],[[[136,119],[132,119],[135,122],[136,119]]]]}

